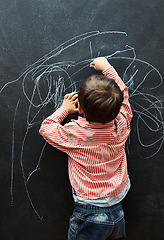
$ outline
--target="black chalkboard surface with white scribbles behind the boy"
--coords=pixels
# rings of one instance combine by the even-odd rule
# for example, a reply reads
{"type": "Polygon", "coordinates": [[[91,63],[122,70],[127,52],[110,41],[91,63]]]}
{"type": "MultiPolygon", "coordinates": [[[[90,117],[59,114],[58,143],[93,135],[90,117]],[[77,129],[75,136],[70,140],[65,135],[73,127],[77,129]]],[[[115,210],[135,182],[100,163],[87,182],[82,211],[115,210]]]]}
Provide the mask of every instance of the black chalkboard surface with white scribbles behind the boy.
{"type": "Polygon", "coordinates": [[[67,156],[38,130],[94,72],[92,59],[106,56],[129,87],[133,110],[127,240],[163,240],[163,0],[0,4],[0,239],[67,239],[67,156]]]}

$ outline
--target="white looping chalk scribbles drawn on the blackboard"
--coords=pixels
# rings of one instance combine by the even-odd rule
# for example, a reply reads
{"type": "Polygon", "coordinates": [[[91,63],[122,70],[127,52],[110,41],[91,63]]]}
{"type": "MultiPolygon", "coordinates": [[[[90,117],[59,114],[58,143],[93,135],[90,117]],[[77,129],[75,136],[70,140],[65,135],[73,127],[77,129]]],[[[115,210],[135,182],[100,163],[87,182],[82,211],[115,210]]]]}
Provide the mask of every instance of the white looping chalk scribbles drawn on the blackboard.
{"type": "MultiPolygon", "coordinates": [[[[93,31],[73,37],[72,39],[62,43],[60,46],[53,49],[45,56],[41,57],[32,65],[28,66],[19,78],[5,83],[0,89],[1,94],[9,85],[19,82],[22,86],[22,93],[28,101],[28,111],[26,114],[26,129],[21,144],[20,165],[27,197],[29,199],[32,209],[40,220],[43,219],[43,216],[38,213],[36,207],[33,204],[30,191],[28,189],[28,183],[31,178],[35,174],[37,174],[38,171],[40,171],[40,162],[44,149],[46,147],[46,143],[44,143],[42,147],[39,159],[37,159],[36,162],[36,167],[31,170],[31,173],[28,174],[28,176],[26,176],[23,154],[25,145],[28,144],[28,133],[34,126],[39,126],[45,118],[45,116],[42,115],[43,109],[45,109],[49,104],[51,104],[53,106],[53,111],[55,111],[61,106],[63,96],[66,93],[78,91],[78,87],[83,80],[74,80],[74,77],[80,74],[83,70],[89,68],[90,62],[93,61],[94,58],[101,56],[101,50],[95,51],[94,43],[97,37],[102,36],[103,39],[103,36],[108,35],[127,37],[127,34],[121,31],[93,31]],[[64,59],[62,61],[58,60],[60,59],[60,56],[62,54],[65,54],[67,50],[73,51],[73,48],[75,46],[78,46],[78,48],[80,48],[80,44],[84,41],[88,41],[88,58],[84,58],[80,61],[77,61],[76,59],[64,59]],[[30,90],[27,87],[29,82],[31,83],[30,90]]],[[[103,44],[103,40],[100,42],[100,44],[103,44]]],[[[143,59],[138,59],[135,49],[128,45],[124,46],[123,49],[118,49],[110,53],[108,53],[108,49],[106,49],[105,57],[109,60],[111,64],[112,61],[115,60],[122,61],[124,64],[126,63],[125,70],[121,77],[125,84],[129,87],[130,103],[133,114],[136,117],[135,134],[137,134],[139,145],[143,147],[145,151],[147,151],[147,149],[153,149],[152,151],[150,151],[150,154],[148,156],[145,155],[141,157],[150,158],[152,156],[155,156],[161,150],[164,141],[164,121],[162,116],[163,100],[161,100],[158,96],[154,96],[153,94],[151,94],[153,90],[159,88],[160,86],[163,86],[163,78],[160,72],[151,63],[148,63],[143,59]],[[153,86],[149,84],[149,78],[151,78],[152,74],[155,74],[153,86]],[[156,138],[152,138],[152,141],[150,140],[149,142],[146,142],[147,140],[144,137],[144,134],[141,132],[140,125],[142,125],[142,131],[149,133],[150,136],[157,133],[156,138]]],[[[15,107],[15,113],[13,116],[13,131],[11,142],[11,205],[14,204],[13,185],[15,124],[17,111],[19,109],[20,103],[21,99],[18,99],[17,105],[15,107]]],[[[47,113],[47,115],[49,114],[51,113],[47,113]]],[[[35,134],[38,134],[38,132],[35,134]]],[[[131,139],[133,138],[132,134],[130,135],[126,144],[128,154],[130,154],[129,146],[131,143],[131,139]]],[[[38,137],[41,136],[39,136],[38,134],[38,137]]]]}

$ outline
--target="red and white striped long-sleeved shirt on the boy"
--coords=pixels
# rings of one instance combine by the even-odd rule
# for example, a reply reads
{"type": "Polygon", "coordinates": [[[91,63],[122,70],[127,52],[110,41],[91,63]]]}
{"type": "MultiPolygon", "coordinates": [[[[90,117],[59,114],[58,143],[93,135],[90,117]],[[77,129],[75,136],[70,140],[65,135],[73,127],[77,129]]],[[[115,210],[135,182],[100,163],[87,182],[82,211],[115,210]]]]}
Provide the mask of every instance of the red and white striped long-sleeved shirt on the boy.
{"type": "Polygon", "coordinates": [[[132,118],[128,88],[112,66],[103,74],[114,79],[124,94],[113,121],[89,123],[79,117],[62,126],[68,113],[59,108],[43,121],[39,131],[49,144],[68,154],[72,188],[78,196],[88,199],[116,196],[128,183],[125,142],[132,118]]]}

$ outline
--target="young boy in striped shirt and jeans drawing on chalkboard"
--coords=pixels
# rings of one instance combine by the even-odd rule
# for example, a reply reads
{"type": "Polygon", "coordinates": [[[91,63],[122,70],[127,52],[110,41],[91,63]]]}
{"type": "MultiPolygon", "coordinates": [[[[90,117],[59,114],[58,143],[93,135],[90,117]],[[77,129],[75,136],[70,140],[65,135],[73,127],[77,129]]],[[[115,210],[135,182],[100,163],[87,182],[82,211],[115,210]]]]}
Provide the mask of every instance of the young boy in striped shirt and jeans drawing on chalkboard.
{"type": "Polygon", "coordinates": [[[75,200],[68,239],[123,240],[121,201],[130,188],[125,154],[132,118],[128,88],[106,58],[96,58],[91,66],[104,76],[93,75],[78,94],[67,94],[61,108],[43,121],[40,134],[68,154],[75,200]],[[84,118],[62,126],[75,112],[84,118]]]}

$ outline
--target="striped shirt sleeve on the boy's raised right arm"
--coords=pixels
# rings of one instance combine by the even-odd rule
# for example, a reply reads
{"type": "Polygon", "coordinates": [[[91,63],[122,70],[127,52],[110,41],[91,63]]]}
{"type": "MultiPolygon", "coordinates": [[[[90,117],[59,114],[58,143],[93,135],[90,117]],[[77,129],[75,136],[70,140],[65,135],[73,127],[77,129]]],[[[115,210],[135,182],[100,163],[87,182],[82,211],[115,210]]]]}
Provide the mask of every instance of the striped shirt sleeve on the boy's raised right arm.
{"type": "Polygon", "coordinates": [[[120,113],[122,113],[124,115],[124,117],[126,118],[127,124],[129,126],[130,121],[132,119],[132,110],[131,110],[130,103],[129,103],[128,87],[121,80],[121,78],[119,77],[119,75],[116,72],[116,70],[114,69],[114,67],[112,67],[112,66],[108,67],[107,69],[105,69],[103,71],[103,74],[105,77],[113,79],[119,86],[120,90],[123,92],[124,99],[122,102],[122,106],[120,108],[120,113]]]}

